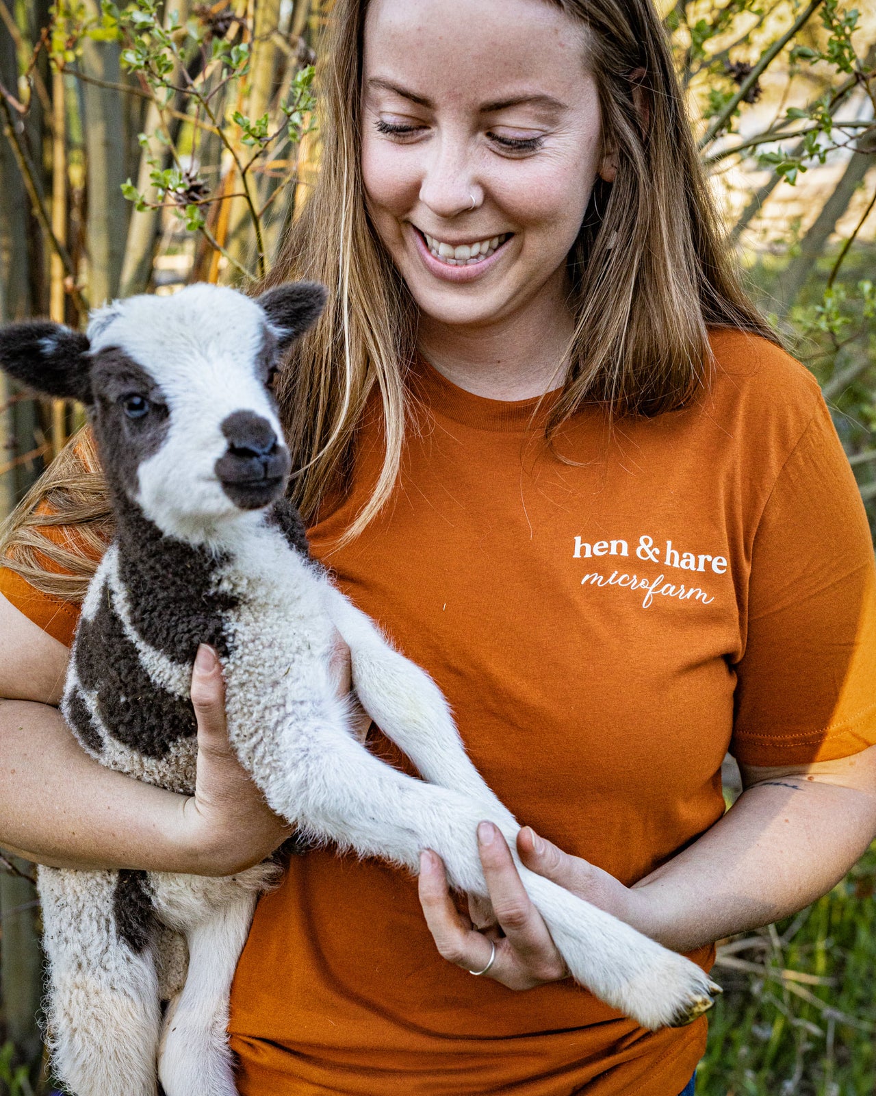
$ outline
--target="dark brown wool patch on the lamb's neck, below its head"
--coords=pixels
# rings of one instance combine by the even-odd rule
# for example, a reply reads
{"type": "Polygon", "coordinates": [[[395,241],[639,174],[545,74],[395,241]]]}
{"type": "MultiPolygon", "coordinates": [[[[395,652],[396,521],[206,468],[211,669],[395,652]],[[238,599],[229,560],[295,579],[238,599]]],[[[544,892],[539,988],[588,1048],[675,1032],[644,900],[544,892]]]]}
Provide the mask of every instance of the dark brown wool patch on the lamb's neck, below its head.
{"type": "Polygon", "coordinates": [[[116,501],[119,574],[137,633],[174,662],[194,663],[198,643],[229,651],[226,617],[238,598],[212,590],[227,562],[165,536],[129,499],[116,501]]]}

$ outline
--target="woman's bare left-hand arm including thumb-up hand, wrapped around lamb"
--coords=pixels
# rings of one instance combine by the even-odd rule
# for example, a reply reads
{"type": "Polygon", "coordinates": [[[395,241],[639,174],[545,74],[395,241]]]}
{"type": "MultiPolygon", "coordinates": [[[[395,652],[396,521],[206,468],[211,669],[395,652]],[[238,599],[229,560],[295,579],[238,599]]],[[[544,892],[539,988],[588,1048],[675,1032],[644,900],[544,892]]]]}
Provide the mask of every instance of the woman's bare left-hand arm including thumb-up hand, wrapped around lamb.
{"type": "Polygon", "coordinates": [[[56,705],[68,651],[0,596],[0,845],[41,864],[229,875],[288,829],[241,768],[226,733],[222,678],[207,647],[192,677],[194,796],[104,768],[56,705]]]}

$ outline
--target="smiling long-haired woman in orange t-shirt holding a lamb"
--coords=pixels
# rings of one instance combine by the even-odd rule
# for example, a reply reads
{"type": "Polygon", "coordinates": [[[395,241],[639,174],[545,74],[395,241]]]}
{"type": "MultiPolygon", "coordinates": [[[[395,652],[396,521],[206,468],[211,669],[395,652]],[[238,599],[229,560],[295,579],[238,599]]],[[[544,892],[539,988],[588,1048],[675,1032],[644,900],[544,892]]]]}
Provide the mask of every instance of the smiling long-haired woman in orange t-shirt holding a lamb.
{"type": "MultiPolygon", "coordinates": [[[[829,415],[728,269],[647,0],[337,0],[333,22],[321,179],[273,275],[333,290],[278,387],[313,552],[443,688],[523,860],[708,964],[876,830],[876,578],[829,415]]],[[[10,541],[22,701],[57,703],[64,646],[33,620],[69,641],[38,591],[84,568],[74,460],[10,541]]],[[[3,705],[3,843],[206,874],[274,847],[201,653],[191,799],[3,705]]],[[[646,1032],[570,984],[479,840],[471,918],[428,852],[418,900],[382,864],[292,858],[232,994],[242,1093],[692,1091],[705,1025],[646,1032]]]]}

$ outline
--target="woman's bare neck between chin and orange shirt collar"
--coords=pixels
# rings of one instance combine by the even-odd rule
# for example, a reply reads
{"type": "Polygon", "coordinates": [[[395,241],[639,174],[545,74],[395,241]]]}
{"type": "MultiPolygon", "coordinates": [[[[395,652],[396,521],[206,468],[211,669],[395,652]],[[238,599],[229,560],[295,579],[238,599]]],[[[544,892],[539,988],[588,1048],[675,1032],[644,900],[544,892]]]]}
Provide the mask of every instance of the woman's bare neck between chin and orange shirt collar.
{"type": "Polygon", "coordinates": [[[459,388],[494,400],[526,400],[563,384],[574,330],[565,295],[544,295],[494,323],[462,327],[420,316],[419,352],[459,388]]]}

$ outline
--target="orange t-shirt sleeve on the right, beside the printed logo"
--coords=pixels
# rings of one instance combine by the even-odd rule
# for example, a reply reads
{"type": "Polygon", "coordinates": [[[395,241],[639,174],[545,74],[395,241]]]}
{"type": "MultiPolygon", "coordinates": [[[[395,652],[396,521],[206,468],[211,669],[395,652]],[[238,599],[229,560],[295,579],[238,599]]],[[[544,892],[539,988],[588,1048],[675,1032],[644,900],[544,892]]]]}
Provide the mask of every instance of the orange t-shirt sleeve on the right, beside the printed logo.
{"type": "Polygon", "coordinates": [[[819,399],[751,550],[730,752],[806,764],[876,743],[876,564],[849,461],[819,399]]]}

